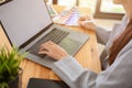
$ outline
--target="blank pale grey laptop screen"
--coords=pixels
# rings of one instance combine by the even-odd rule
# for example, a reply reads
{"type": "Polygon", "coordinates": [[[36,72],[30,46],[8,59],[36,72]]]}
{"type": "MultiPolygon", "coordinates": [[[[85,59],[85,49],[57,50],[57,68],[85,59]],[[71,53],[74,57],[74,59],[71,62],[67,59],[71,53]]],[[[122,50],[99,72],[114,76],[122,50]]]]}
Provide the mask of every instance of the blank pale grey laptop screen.
{"type": "Polygon", "coordinates": [[[0,6],[0,21],[16,46],[52,24],[44,0],[12,0],[0,6]]]}

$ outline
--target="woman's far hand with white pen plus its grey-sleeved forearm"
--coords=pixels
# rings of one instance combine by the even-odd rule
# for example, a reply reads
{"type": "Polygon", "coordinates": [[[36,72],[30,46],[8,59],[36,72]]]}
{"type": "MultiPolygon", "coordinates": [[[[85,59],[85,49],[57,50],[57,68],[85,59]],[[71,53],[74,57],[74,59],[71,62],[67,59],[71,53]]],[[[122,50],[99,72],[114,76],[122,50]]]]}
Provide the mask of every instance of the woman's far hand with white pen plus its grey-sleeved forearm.
{"type": "Polygon", "coordinates": [[[78,23],[85,29],[95,30],[98,43],[106,45],[111,32],[96,25],[94,22],[89,22],[89,20],[91,19],[88,16],[80,16],[78,23]]]}

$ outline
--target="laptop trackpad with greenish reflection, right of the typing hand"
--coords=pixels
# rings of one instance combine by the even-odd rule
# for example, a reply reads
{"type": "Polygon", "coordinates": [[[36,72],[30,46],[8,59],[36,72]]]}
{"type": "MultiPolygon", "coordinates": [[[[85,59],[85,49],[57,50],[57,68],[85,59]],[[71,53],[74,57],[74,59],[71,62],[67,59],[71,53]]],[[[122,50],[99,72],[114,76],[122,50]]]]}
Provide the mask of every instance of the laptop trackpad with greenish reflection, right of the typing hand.
{"type": "Polygon", "coordinates": [[[66,37],[58,45],[62,46],[69,55],[75,55],[80,48],[81,43],[66,37]]]}

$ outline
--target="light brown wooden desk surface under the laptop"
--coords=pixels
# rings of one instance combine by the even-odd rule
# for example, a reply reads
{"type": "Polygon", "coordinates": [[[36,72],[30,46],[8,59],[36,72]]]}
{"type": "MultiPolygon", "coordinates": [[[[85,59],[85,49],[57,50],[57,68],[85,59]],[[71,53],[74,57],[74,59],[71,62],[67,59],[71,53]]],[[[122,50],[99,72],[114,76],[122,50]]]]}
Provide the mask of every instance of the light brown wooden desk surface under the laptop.
{"type": "MultiPolygon", "coordinates": [[[[58,12],[64,9],[64,7],[56,7],[56,6],[54,6],[54,8],[58,12]]],[[[90,12],[89,9],[86,9],[86,8],[79,9],[79,10],[81,10],[87,14],[90,12]]],[[[85,30],[82,28],[72,28],[72,26],[69,29],[89,34],[90,38],[86,42],[86,44],[81,47],[81,50],[75,55],[75,58],[81,64],[82,67],[89,68],[96,73],[99,73],[101,70],[101,67],[100,67],[99,53],[98,53],[97,38],[96,38],[95,31],[85,30]]],[[[0,28],[0,44],[2,43],[3,38],[6,38],[6,36],[3,35],[3,32],[1,31],[1,28],[0,28]]],[[[7,43],[9,45],[9,42],[7,43]]],[[[51,69],[28,59],[24,59],[21,63],[21,67],[23,68],[22,88],[26,88],[29,78],[31,77],[59,79],[51,69]]]]}

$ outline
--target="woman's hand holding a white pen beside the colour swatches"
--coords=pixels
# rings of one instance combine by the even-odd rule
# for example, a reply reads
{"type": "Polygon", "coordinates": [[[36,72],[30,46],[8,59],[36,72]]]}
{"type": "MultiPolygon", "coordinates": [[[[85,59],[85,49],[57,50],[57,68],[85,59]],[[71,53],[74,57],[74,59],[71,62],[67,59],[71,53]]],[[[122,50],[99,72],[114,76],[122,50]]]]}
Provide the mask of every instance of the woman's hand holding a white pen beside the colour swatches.
{"type": "Polygon", "coordinates": [[[92,19],[89,18],[88,15],[81,15],[78,20],[78,23],[80,26],[95,30],[96,25],[92,22],[92,19]]]}

